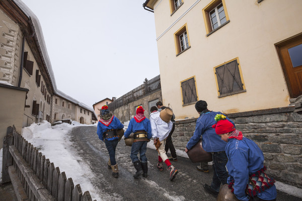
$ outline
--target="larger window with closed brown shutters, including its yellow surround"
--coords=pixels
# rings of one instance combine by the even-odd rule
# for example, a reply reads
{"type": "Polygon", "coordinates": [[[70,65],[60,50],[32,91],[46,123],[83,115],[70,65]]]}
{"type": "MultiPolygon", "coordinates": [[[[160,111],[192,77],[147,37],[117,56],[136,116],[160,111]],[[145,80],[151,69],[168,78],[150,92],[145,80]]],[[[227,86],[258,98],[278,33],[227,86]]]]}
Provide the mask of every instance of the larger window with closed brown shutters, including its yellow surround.
{"type": "Polygon", "coordinates": [[[214,72],[216,74],[215,78],[218,86],[218,97],[246,91],[237,58],[214,67],[214,72]]]}

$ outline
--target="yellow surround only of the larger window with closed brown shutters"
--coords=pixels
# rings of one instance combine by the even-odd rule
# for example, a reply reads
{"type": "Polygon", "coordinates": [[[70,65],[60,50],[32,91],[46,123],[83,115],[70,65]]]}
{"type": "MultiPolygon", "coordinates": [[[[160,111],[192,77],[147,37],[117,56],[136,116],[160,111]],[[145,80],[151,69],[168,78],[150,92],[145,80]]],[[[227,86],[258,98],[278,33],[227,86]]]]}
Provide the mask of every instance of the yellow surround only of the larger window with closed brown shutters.
{"type": "Polygon", "coordinates": [[[245,83],[244,83],[244,79],[243,79],[243,74],[242,74],[242,70],[241,70],[241,65],[240,65],[240,62],[239,62],[239,58],[235,58],[235,59],[232,59],[230,61],[226,61],[218,66],[215,66],[214,68],[214,77],[215,77],[215,81],[216,81],[216,87],[217,87],[217,94],[218,94],[218,98],[220,97],[225,97],[225,96],[229,96],[229,95],[234,95],[234,94],[237,94],[237,93],[242,93],[242,92],[246,92],[246,87],[245,87],[245,83]],[[225,64],[228,64],[228,63],[231,63],[233,61],[237,60],[237,64],[238,64],[238,70],[239,70],[239,75],[240,75],[240,79],[241,79],[241,83],[242,83],[242,89],[241,90],[237,90],[237,91],[232,91],[230,93],[223,93],[221,94],[220,91],[219,91],[219,84],[218,84],[218,79],[217,79],[217,74],[216,74],[216,68],[218,67],[221,67],[225,64]]]}

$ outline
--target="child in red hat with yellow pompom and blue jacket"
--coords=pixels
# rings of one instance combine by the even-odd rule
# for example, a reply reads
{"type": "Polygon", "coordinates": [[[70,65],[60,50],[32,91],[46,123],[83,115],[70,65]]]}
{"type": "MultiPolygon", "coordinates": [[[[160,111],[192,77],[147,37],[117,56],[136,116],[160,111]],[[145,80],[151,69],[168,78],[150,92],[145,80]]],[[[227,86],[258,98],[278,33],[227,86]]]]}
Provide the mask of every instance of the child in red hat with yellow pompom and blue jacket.
{"type": "Polygon", "coordinates": [[[212,127],[216,134],[227,142],[226,167],[229,170],[229,188],[239,200],[276,200],[275,180],[265,173],[264,156],[257,144],[242,135],[223,115],[216,115],[212,127]]]}

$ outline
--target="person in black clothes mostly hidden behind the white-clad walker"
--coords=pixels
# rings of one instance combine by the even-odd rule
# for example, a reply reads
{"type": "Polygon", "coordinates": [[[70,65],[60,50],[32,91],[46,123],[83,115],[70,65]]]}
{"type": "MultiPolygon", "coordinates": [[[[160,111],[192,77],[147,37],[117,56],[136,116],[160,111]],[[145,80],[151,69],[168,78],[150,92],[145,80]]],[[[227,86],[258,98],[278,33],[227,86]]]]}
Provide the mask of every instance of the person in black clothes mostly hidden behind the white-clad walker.
{"type": "MultiPolygon", "coordinates": [[[[161,112],[161,110],[164,110],[165,108],[169,108],[166,106],[163,106],[163,103],[161,101],[156,103],[156,107],[159,109],[158,111],[161,112]]],[[[171,109],[171,108],[169,108],[171,109]]],[[[172,109],[171,109],[172,110],[172,109]]],[[[177,161],[177,154],[176,154],[176,150],[175,147],[173,145],[173,141],[172,141],[172,134],[175,130],[175,115],[173,114],[172,118],[171,118],[171,122],[172,122],[172,130],[170,131],[167,139],[166,139],[166,145],[165,145],[165,151],[166,153],[168,153],[169,149],[171,152],[171,156],[168,157],[171,161],[177,161]]]]}

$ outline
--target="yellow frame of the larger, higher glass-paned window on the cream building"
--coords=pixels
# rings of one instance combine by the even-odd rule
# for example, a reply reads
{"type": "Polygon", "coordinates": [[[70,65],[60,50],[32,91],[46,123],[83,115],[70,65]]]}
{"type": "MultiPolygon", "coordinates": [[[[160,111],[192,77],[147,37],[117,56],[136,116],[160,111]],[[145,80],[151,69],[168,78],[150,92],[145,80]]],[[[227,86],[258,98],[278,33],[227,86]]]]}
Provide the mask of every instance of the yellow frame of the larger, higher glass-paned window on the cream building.
{"type": "MultiPolygon", "coordinates": [[[[215,11],[215,13],[216,13],[216,11],[215,11]]],[[[214,33],[215,31],[217,31],[218,29],[220,29],[221,27],[223,27],[224,25],[226,25],[230,22],[229,14],[226,9],[224,0],[213,0],[202,10],[202,14],[203,14],[203,19],[204,19],[204,24],[205,24],[205,29],[206,29],[206,36],[211,35],[212,33],[214,33]],[[217,7],[220,6],[221,4],[222,4],[223,10],[224,10],[226,22],[221,24],[220,19],[219,19],[220,26],[218,26],[216,29],[213,29],[210,12],[217,9],[217,7]]],[[[218,17],[219,17],[219,15],[218,15],[218,17]]],[[[217,17],[217,13],[216,13],[216,18],[218,19],[218,17],[217,17]]],[[[218,23],[218,20],[217,20],[217,23],[218,23]]]]}

